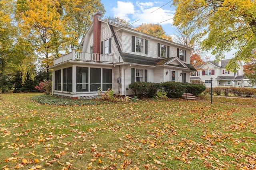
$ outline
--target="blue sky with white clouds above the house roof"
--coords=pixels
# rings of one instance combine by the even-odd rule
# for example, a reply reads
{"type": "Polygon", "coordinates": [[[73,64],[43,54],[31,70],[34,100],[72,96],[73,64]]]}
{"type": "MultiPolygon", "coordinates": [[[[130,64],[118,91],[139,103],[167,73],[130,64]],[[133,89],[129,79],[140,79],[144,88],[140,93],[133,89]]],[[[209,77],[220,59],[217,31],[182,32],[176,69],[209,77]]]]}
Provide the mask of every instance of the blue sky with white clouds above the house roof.
{"type": "MultiPolygon", "coordinates": [[[[119,17],[128,21],[132,26],[137,27],[142,23],[159,24],[163,27],[167,35],[177,35],[176,27],[172,25],[173,17],[175,14],[175,7],[172,6],[172,0],[101,0],[106,10],[103,18],[105,17],[119,17]]],[[[225,59],[233,57],[232,50],[225,53],[225,59]]],[[[215,57],[206,53],[210,60],[215,57]]]]}

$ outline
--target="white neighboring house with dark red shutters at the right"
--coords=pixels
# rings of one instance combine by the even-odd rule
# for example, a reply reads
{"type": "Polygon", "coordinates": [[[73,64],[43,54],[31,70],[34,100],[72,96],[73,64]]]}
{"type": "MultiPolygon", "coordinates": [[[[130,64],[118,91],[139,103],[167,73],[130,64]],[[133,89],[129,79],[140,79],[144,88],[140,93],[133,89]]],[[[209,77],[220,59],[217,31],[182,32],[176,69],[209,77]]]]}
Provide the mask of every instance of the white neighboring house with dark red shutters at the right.
{"type": "Polygon", "coordinates": [[[229,61],[229,59],[221,60],[218,63],[206,61],[204,64],[196,67],[196,72],[190,74],[190,82],[200,80],[205,83],[206,87],[210,87],[210,79],[212,78],[212,87],[232,86],[256,88],[256,86],[250,85],[250,81],[244,77],[242,62],[238,61],[240,68],[237,72],[230,72],[225,68],[229,61]]]}

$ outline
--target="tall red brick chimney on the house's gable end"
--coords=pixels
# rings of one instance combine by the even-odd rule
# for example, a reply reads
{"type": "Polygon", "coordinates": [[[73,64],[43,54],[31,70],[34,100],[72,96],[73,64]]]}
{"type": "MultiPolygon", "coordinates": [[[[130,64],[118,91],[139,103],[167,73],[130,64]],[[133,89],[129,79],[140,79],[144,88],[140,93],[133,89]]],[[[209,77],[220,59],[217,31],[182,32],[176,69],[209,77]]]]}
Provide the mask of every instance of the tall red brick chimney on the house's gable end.
{"type": "Polygon", "coordinates": [[[102,13],[97,12],[93,16],[93,53],[100,54],[100,21],[98,18],[101,18],[102,13]]]}

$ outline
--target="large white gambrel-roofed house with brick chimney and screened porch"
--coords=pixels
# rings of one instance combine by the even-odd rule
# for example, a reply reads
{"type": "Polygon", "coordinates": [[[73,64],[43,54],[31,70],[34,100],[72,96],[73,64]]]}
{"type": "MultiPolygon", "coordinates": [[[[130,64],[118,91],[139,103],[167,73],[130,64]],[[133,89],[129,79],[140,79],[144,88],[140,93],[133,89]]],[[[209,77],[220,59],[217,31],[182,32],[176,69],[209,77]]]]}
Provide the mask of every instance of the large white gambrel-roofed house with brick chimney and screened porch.
{"type": "Polygon", "coordinates": [[[190,47],[101,19],[98,12],[79,45],[54,59],[54,95],[95,98],[98,88],[132,95],[132,82],[190,82],[190,47]]]}

